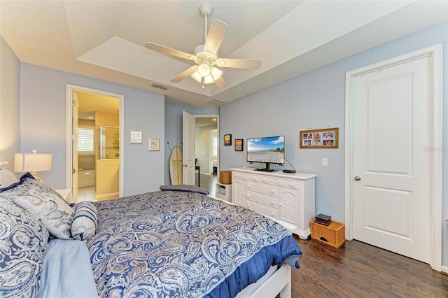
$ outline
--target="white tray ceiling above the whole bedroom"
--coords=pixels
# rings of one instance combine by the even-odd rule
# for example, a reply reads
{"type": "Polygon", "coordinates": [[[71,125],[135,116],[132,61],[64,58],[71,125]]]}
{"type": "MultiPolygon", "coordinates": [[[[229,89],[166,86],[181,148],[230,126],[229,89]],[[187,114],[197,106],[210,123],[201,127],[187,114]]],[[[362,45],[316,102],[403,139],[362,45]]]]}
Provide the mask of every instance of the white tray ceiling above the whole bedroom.
{"type": "Polygon", "coordinates": [[[219,57],[260,59],[223,69],[227,87],[170,80],[190,64],[144,47],[193,52],[205,1],[0,1],[0,34],[22,62],[158,92],[195,107],[232,101],[448,20],[448,1],[208,1],[229,26],[219,57]],[[169,87],[160,90],[153,83],[169,87]]]}

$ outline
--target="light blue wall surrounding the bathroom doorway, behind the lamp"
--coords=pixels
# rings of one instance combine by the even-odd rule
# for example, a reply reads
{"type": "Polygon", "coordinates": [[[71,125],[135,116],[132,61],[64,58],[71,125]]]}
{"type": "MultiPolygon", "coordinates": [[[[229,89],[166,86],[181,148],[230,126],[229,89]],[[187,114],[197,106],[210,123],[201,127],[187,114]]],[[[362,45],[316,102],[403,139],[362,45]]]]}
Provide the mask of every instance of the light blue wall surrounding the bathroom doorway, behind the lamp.
{"type": "Polygon", "coordinates": [[[65,187],[66,84],[125,97],[124,194],[158,190],[164,181],[164,151],[148,151],[148,138],[165,142],[165,98],[132,87],[22,63],[20,78],[20,149],[52,153],[52,170],[40,173],[54,188],[65,187]],[[144,131],[144,144],[130,144],[130,129],[144,131]]]}

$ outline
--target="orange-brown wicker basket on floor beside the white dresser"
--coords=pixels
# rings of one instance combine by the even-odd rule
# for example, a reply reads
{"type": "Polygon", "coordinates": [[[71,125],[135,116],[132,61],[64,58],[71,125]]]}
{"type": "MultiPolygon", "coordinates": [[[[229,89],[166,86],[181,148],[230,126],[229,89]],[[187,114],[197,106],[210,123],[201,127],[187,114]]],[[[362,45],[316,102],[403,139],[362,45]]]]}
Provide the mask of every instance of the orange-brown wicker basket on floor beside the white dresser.
{"type": "Polygon", "coordinates": [[[345,225],[340,222],[321,225],[313,220],[311,222],[311,238],[339,248],[345,241],[345,225]]]}

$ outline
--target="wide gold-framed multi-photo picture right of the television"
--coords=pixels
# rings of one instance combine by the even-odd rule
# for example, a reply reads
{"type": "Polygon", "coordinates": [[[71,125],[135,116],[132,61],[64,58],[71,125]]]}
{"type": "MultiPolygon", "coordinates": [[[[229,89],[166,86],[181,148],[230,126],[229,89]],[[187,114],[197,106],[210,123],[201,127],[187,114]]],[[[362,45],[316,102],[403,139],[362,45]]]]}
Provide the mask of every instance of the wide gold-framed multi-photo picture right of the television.
{"type": "Polygon", "coordinates": [[[300,148],[337,148],[339,128],[300,131],[300,148]]]}

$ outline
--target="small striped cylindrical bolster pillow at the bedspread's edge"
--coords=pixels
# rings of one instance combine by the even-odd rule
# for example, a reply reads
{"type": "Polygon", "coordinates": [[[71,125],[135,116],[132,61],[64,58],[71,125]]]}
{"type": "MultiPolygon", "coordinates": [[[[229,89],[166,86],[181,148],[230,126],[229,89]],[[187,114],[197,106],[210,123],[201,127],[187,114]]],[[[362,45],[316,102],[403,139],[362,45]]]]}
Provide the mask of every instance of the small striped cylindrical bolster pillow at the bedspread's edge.
{"type": "Polygon", "coordinates": [[[82,201],[76,206],[75,216],[71,222],[71,236],[85,240],[97,232],[97,208],[90,201],[82,201]]]}

